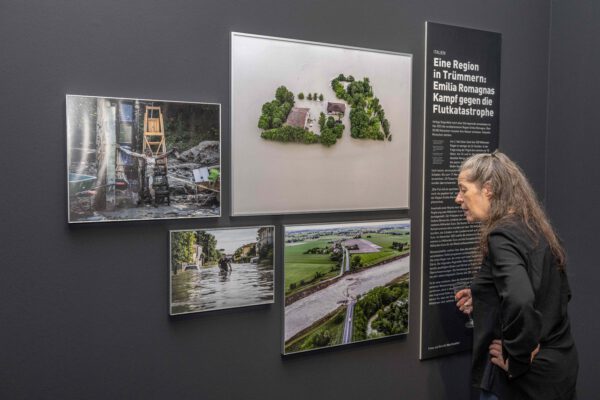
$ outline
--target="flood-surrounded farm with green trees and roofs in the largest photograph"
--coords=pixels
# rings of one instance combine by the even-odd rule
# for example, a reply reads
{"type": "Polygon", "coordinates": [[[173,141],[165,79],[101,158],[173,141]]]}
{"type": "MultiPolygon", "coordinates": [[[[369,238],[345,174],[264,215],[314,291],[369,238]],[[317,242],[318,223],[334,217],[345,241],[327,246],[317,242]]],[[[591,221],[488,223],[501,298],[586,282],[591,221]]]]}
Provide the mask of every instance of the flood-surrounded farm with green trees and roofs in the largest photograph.
{"type": "Polygon", "coordinates": [[[261,108],[258,119],[258,127],[263,130],[261,137],[278,142],[333,146],[346,128],[343,121],[348,106],[352,138],[392,140],[390,123],[369,78],[355,80],[352,75],[339,74],[331,81],[330,89],[338,102],[326,102],[322,93],[305,96],[303,92],[298,93],[296,101],[294,93],[279,86],[275,98],[261,108]]]}

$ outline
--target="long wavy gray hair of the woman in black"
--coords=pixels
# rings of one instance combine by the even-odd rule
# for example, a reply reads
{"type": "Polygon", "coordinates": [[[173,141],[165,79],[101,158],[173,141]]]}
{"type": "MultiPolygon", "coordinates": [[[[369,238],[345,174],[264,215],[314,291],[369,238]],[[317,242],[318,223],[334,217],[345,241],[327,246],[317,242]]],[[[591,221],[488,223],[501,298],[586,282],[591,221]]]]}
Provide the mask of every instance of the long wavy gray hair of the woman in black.
{"type": "Polygon", "coordinates": [[[565,267],[565,250],[548,221],[538,198],[525,174],[505,154],[475,154],[466,159],[460,172],[466,172],[467,180],[479,188],[490,185],[492,197],[489,218],[481,225],[481,254],[487,254],[490,232],[506,218],[513,215],[521,219],[533,237],[541,233],[546,238],[560,269],[565,267]]]}

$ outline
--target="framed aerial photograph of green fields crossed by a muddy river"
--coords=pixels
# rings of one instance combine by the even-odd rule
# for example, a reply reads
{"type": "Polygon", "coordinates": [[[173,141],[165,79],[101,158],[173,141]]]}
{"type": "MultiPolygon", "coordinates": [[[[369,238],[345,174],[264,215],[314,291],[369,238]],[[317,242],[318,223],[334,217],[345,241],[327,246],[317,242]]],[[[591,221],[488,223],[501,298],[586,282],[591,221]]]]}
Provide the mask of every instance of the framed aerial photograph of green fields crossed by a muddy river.
{"type": "Polygon", "coordinates": [[[284,354],[408,333],[409,220],[284,235],[284,354]]]}

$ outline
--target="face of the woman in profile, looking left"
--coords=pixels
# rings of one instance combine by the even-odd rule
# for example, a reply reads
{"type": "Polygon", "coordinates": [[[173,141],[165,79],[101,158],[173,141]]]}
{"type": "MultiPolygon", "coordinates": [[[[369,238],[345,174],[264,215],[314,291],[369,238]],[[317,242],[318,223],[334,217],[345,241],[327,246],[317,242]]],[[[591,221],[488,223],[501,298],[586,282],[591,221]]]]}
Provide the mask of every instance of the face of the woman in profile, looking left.
{"type": "Polygon", "coordinates": [[[468,171],[458,175],[458,194],[454,201],[462,208],[469,222],[481,222],[489,218],[492,192],[485,185],[478,187],[467,180],[468,171]]]}

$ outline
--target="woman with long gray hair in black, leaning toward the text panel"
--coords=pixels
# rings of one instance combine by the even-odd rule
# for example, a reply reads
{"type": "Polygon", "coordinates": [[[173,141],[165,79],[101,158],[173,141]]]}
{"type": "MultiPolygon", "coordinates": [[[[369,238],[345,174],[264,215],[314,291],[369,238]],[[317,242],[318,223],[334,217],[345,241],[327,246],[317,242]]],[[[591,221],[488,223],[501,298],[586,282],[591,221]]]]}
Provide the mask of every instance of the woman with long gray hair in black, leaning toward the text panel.
{"type": "Polygon", "coordinates": [[[481,223],[481,268],[456,294],[471,314],[473,385],[481,399],[574,399],[565,252],[521,169],[500,152],[465,160],[460,205],[481,223]]]}

